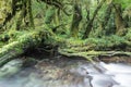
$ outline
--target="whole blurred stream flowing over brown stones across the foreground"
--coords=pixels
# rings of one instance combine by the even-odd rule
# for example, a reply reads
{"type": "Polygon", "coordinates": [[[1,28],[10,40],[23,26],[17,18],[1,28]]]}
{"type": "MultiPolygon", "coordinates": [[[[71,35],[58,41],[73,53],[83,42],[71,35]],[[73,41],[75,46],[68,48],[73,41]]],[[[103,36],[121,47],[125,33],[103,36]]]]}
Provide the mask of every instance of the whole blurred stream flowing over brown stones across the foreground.
{"type": "Polygon", "coordinates": [[[91,64],[85,60],[46,59],[34,67],[16,71],[15,75],[2,70],[0,74],[2,72],[4,76],[0,78],[0,87],[131,87],[131,65],[123,63],[91,64]]]}

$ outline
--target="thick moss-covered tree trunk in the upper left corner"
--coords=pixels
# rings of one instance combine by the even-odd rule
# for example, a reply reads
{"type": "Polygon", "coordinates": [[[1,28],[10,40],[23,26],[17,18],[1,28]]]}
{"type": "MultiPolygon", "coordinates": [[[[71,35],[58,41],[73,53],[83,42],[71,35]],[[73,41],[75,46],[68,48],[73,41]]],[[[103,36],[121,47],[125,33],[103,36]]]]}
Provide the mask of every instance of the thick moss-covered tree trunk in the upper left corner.
{"type": "Polygon", "coordinates": [[[5,14],[2,29],[19,30],[24,27],[35,28],[32,14],[32,0],[11,0],[10,4],[4,5],[11,11],[5,14]]]}

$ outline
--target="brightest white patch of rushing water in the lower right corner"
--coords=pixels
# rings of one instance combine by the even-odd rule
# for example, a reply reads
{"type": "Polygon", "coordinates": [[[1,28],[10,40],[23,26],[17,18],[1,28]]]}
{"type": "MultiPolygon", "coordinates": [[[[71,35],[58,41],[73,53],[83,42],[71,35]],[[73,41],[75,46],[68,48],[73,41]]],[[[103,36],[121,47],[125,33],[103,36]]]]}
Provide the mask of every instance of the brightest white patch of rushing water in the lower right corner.
{"type": "Polygon", "coordinates": [[[114,87],[131,87],[131,65],[121,63],[100,64],[107,69],[106,74],[111,75],[111,77],[119,83],[118,86],[114,87]]]}

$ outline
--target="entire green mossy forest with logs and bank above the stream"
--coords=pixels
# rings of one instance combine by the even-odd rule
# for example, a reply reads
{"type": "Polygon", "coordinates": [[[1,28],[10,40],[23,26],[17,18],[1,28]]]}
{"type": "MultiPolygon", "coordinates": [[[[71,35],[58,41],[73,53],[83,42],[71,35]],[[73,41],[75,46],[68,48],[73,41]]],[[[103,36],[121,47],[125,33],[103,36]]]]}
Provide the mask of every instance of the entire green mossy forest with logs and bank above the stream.
{"type": "Polygon", "coordinates": [[[130,0],[0,0],[0,65],[27,52],[131,55],[130,0]]]}

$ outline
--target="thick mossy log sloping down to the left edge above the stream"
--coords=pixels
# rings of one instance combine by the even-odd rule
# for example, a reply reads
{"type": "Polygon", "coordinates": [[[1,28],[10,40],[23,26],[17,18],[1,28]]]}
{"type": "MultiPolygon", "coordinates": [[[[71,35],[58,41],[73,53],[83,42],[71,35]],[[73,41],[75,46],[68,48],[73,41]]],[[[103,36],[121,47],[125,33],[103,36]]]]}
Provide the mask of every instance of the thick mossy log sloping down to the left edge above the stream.
{"type": "Polygon", "coordinates": [[[20,36],[15,41],[0,48],[0,66],[23,54],[28,48],[34,48],[48,38],[51,33],[47,29],[37,29],[20,36]]]}

